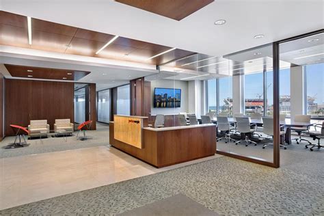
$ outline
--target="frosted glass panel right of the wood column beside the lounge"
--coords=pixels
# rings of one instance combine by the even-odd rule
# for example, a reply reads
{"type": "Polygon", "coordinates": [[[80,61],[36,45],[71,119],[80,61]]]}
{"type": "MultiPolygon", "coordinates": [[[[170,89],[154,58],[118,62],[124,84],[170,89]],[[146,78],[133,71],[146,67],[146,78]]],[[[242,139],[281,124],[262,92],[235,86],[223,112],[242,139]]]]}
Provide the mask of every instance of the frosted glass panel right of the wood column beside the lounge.
{"type": "Polygon", "coordinates": [[[98,92],[97,97],[98,122],[109,123],[110,119],[110,90],[98,92]]]}

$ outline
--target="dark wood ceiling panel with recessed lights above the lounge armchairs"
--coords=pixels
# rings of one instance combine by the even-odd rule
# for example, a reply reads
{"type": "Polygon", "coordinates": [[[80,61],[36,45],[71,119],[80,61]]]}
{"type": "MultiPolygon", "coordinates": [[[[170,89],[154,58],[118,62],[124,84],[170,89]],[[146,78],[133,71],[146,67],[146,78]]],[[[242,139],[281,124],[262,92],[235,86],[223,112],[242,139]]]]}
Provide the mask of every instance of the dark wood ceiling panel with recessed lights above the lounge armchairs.
{"type": "Polygon", "coordinates": [[[85,77],[90,73],[88,71],[37,68],[29,66],[17,66],[12,64],[5,64],[5,68],[7,68],[12,77],[24,77],[29,79],[57,79],[78,81],[79,79],[85,77]],[[31,75],[33,77],[28,77],[28,75],[31,75]]]}

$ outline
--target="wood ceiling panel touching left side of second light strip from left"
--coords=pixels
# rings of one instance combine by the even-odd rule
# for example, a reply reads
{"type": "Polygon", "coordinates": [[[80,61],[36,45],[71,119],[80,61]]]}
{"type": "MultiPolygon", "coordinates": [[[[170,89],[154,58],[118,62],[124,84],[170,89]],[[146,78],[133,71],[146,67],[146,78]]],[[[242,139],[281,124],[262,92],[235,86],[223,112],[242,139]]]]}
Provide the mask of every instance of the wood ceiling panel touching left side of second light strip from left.
{"type": "Polygon", "coordinates": [[[66,53],[74,55],[94,56],[96,51],[103,47],[106,43],[96,40],[85,40],[82,38],[73,38],[66,53]]]}

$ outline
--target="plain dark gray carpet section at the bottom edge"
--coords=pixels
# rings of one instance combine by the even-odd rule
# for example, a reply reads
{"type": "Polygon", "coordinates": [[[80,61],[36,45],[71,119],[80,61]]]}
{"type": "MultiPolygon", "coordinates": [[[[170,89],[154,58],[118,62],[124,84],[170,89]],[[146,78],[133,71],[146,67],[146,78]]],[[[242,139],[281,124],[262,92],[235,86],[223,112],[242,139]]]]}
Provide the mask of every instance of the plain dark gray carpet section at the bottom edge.
{"type": "Polygon", "coordinates": [[[177,194],[170,198],[165,198],[152,204],[147,204],[139,208],[135,208],[120,216],[217,216],[218,214],[204,207],[202,204],[195,202],[186,195],[177,194]]]}

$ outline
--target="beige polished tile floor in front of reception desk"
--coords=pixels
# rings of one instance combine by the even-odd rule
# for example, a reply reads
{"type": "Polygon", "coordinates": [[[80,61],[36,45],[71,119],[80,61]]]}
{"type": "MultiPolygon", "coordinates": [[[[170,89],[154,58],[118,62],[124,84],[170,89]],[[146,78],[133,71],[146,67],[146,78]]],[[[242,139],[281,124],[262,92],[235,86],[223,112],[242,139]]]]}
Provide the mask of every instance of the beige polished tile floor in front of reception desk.
{"type": "Polygon", "coordinates": [[[161,169],[107,146],[3,158],[0,209],[118,183],[216,157],[221,156],[161,169]]]}

